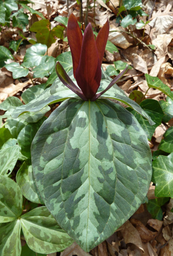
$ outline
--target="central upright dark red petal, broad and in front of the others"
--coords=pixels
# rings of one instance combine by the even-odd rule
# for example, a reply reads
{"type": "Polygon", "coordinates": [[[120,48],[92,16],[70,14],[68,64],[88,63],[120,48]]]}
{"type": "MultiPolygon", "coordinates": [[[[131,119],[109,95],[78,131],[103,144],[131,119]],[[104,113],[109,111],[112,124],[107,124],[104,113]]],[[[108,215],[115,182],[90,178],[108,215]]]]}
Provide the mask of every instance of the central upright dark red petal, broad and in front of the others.
{"type": "Polygon", "coordinates": [[[91,24],[84,32],[81,58],[76,69],[76,81],[87,99],[91,99],[98,90],[101,80],[101,63],[94,40],[91,24]]]}

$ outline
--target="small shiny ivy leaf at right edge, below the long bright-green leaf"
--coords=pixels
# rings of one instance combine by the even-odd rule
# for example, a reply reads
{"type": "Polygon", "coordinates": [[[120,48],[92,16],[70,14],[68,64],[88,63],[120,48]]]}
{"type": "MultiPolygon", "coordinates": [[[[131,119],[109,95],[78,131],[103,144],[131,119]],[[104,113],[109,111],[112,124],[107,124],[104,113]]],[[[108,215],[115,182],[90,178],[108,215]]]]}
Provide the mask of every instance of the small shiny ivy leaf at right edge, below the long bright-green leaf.
{"type": "Polygon", "coordinates": [[[161,100],[159,101],[159,103],[164,112],[164,117],[162,121],[167,123],[170,121],[170,119],[173,118],[173,100],[170,97],[167,97],[166,101],[161,100]]]}

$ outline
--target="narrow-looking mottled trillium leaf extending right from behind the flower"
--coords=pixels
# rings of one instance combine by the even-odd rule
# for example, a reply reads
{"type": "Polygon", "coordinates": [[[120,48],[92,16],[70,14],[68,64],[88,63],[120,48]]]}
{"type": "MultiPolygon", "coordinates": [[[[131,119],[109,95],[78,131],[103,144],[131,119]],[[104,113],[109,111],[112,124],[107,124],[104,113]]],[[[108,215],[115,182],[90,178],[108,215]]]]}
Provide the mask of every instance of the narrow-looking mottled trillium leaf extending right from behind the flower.
{"type": "MultiPolygon", "coordinates": [[[[103,89],[105,89],[109,85],[109,80],[101,80],[101,85],[99,87],[98,92],[103,89]]],[[[135,110],[137,113],[142,115],[144,118],[148,120],[150,125],[154,125],[155,123],[151,120],[151,118],[148,116],[147,113],[134,101],[132,101],[130,98],[128,98],[123,90],[121,90],[116,84],[112,86],[108,91],[106,91],[104,94],[101,95],[101,98],[112,98],[118,101],[121,101],[128,105],[130,108],[135,110]]]]}

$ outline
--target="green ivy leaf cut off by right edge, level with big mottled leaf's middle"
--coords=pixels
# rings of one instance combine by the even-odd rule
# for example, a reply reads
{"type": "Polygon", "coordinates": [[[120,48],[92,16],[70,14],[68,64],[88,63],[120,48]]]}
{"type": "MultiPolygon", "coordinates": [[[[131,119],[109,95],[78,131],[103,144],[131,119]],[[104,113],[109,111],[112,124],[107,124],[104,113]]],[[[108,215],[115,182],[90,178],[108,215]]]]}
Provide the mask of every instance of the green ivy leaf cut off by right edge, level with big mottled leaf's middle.
{"type": "Polygon", "coordinates": [[[168,128],[163,137],[164,138],[161,140],[158,149],[167,153],[173,152],[173,127],[168,128]]]}

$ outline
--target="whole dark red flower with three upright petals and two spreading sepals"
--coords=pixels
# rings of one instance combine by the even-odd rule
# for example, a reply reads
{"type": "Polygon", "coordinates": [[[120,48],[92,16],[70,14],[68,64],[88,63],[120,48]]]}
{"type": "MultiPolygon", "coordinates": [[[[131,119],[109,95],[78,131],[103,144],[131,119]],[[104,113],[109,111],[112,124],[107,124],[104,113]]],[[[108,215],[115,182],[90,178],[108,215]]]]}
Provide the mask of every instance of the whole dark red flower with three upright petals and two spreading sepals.
{"type": "Polygon", "coordinates": [[[68,20],[67,37],[73,60],[73,73],[79,88],[70,79],[62,65],[57,62],[56,71],[59,79],[83,100],[95,101],[105,93],[127,71],[128,67],[115,77],[108,87],[96,94],[101,81],[101,64],[109,35],[108,20],[98,33],[96,40],[89,23],[84,36],[74,14],[68,20]]]}

